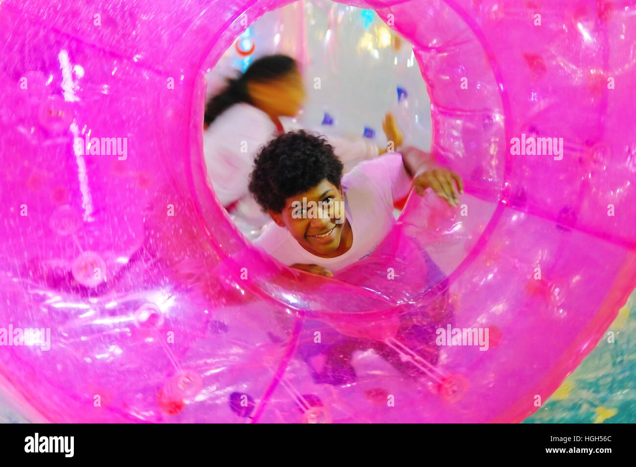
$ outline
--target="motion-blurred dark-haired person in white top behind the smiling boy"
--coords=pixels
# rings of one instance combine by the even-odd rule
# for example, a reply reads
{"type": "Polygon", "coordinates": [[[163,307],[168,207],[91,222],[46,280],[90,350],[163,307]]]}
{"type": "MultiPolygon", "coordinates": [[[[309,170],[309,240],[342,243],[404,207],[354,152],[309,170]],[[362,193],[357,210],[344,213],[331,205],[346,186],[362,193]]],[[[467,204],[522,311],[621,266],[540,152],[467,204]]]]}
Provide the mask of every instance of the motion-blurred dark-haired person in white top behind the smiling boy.
{"type": "MultiPolygon", "coordinates": [[[[296,60],[268,55],[229,79],[205,108],[203,142],[208,177],[221,204],[251,238],[268,221],[247,189],[254,157],[258,149],[284,132],[282,119],[296,116],[305,97],[296,60]]],[[[384,127],[387,139],[399,146],[402,137],[392,116],[387,115],[384,127]]],[[[329,141],[338,157],[350,165],[384,152],[363,137],[331,137],[329,141]]]]}

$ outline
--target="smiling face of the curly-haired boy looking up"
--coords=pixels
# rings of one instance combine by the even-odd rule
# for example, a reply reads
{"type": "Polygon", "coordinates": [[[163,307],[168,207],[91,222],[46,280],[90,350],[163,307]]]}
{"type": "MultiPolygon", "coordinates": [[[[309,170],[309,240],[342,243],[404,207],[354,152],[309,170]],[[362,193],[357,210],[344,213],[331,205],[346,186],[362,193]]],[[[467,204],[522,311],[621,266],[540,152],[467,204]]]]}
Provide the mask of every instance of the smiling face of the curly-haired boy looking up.
{"type": "Polygon", "coordinates": [[[285,227],[305,250],[319,257],[331,258],[342,255],[352,243],[349,222],[340,207],[343,205],[342,187],[324,179],[308,191],[287,198],[282,212],[270,210],[270,216],[277,225],[285,227]],[[322,209],[302,209],[312,204],[322,206],[322,209]]]}

